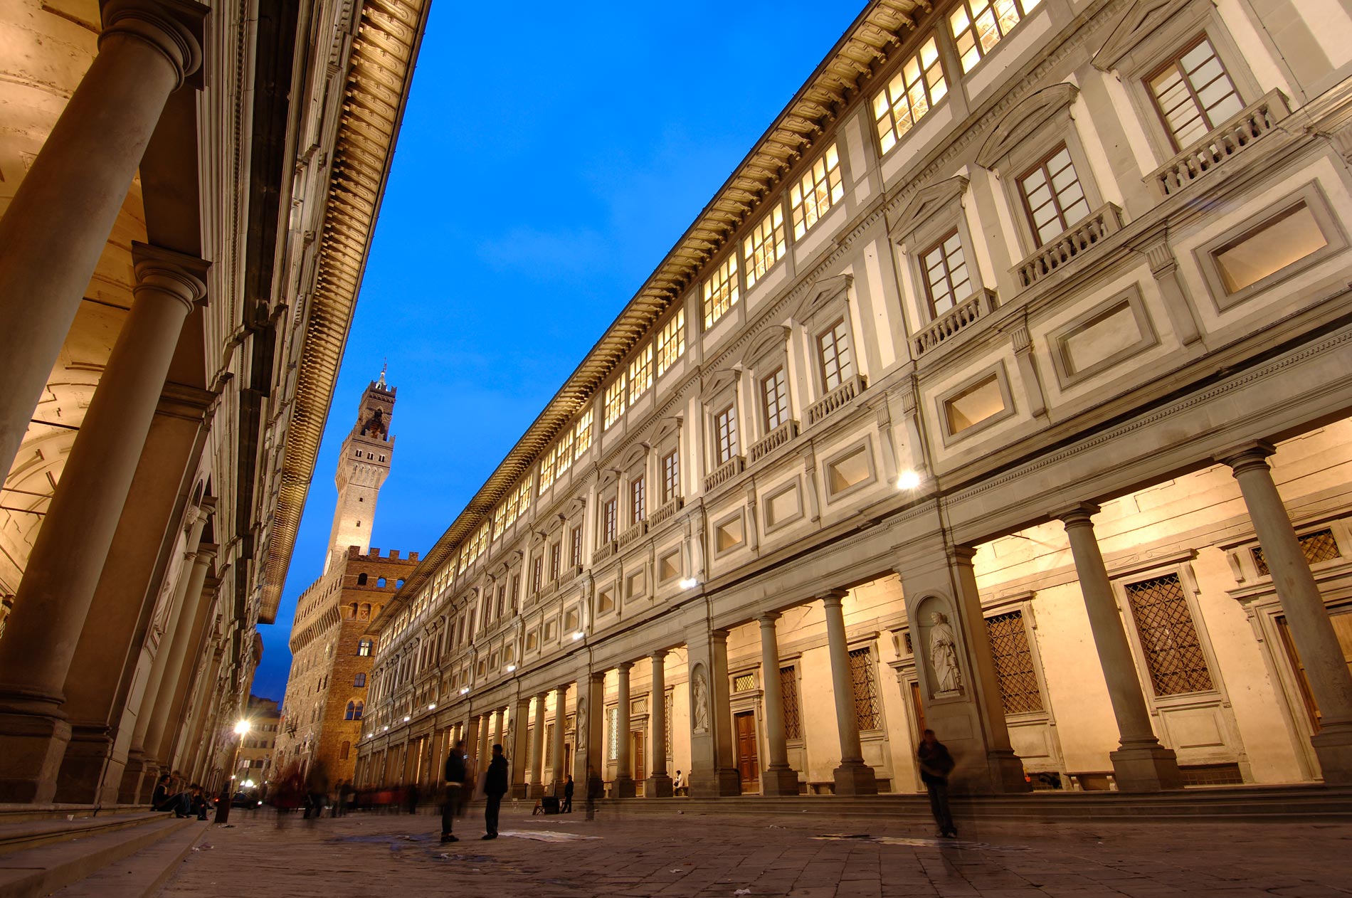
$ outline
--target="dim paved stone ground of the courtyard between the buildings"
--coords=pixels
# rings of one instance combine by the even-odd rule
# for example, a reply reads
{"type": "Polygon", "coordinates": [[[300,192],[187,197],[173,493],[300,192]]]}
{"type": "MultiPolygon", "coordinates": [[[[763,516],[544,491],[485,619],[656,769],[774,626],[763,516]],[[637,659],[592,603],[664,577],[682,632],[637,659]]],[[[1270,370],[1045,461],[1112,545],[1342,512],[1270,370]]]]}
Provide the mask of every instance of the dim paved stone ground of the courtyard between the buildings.
{"type": "Polygon", "coordinates": [[[1348,824],[1002,822],[950,843],[899,821],[602,811],[587,822],[504,809],[502,837],[480,841],[480,814],[441,845],[429,814],[279,828],[268,811],[237,811],[161,895],[1352,895],[1348,824]]]}

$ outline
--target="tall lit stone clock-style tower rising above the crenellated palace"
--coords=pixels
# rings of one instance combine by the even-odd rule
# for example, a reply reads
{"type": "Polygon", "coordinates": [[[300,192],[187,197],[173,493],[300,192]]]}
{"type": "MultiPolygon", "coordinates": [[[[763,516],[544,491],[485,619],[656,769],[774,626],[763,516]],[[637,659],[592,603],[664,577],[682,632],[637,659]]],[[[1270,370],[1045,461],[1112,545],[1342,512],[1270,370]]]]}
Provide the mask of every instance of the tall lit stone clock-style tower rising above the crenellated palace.
{"type": "Polygon", "coordinates": [[[397,387],[385,384],[385,369],[381,368],[380,377],[361,395],[357,422],[343,440],[334,473],[338,503],[334,506],[324,572],[347,556],[347,546],[360,546],[362,554],[370,548],[370,525],[376,519],[380,484],[389,476],[389,463],[395,454],[389,419],[395,412],[396,392],[397,387]]]}

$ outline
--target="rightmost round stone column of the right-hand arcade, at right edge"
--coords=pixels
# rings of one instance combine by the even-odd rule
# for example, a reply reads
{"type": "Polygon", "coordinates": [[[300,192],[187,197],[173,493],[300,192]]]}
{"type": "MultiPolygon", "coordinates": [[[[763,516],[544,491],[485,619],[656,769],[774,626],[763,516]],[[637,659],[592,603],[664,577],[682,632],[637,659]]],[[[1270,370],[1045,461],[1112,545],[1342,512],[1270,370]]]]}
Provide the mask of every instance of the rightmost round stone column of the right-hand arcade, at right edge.
{"type": "Polygon", "coordinates": [[[1320,587],[1310,573],[1282,495],[1272,481],[1267,458],[1276,449],[1256,442],[1222,458],[1240,483],[1253,533],[1282,600],[1291,641],[1301,655],[1310,692],[1320,706],[1320,732],[1310,745],[1320,759],[1325,783],[1352,783],[1352,674],[1348,672],[1320,587]]]}

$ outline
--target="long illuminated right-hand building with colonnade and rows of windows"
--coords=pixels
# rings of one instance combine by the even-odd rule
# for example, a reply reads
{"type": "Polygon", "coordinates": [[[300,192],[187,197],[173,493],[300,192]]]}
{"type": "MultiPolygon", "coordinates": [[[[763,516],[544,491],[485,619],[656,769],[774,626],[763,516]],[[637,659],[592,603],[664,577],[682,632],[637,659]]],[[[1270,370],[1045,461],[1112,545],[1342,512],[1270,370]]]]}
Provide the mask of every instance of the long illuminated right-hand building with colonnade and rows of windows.
{"type": "Polygon", "coordinates": [[[1349,74],[1337,0],[869,3],[369,622],[358,784],[1352,780],[1349,74]]]}

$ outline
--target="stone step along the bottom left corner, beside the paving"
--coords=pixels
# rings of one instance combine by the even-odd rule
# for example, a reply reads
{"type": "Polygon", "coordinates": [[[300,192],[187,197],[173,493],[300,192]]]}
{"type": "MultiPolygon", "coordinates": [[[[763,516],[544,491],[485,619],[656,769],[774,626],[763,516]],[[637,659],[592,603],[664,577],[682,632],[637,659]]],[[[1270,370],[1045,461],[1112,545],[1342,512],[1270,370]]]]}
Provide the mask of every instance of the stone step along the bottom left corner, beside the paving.
{"type": "MultiPolygon", "coordinates": [[[[73,824],[84,821],[68,821],[73,824]]],[[[0,856],[0,898],[35,898],[46,895],[100,870],[105,864],[134,855],[166,836],[197,824],[165,814],[146,814],[138,822],[91,832],[68,830],[59,841],[49,840],[23,851],[0,856]]]]}

